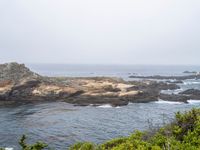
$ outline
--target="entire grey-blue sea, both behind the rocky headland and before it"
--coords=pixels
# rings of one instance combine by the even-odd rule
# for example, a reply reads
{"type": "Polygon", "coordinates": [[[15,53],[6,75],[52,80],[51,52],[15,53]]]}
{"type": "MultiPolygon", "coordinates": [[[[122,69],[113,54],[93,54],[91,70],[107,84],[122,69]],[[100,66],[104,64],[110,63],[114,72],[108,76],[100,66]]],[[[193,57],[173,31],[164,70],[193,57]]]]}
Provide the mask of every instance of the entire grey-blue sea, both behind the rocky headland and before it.
{"type": "MultiPolygon", "coordinates": [[[[102,65],[33,65],[31,70],[48,76],[117,76],[128,80],[131,74],[181,75],[183,71],[199,71],[200,66],[102,66],[102,65]]],[[[181,90],[200,89],[199,80],[186,80],[181,90]]],[[[180,90],[179,90],[180,91],[180,90]]],[[[177,93],[175,91],[163,91],[177,93]]],[[[63,102],[0,107],[0,147],[17,147],[22,134],[28,142],[45,141],[51,148],[64,150],[78,141],[101,143],[127,136],[136,129],[146,130],[171,121],[174,112],[200,107],[200,103],[153,102],[112,108],[74,107],[63,102]]]]}

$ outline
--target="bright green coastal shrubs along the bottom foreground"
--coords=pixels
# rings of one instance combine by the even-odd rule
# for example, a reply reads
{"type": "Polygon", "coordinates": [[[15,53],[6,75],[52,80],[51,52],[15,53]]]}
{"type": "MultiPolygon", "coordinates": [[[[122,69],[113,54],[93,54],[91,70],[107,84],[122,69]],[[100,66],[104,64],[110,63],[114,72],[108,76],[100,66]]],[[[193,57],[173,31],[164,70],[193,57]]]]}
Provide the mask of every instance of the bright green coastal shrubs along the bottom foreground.
{"type": "MultiPolygon", "coordinates": [[[[22,150],[43,150],[48,145],[43,142],[27,144],[26,136],[19,141],[22,150]]],[[[148,131],[135,131],[128,137],[120,137],[102,144],[80,142],[69,150],[199,150],[200,149],[200,109],[177,112],[170,124],[148,131]]],[[[3,150],[3,149],[1,149],[3,150]]]]}

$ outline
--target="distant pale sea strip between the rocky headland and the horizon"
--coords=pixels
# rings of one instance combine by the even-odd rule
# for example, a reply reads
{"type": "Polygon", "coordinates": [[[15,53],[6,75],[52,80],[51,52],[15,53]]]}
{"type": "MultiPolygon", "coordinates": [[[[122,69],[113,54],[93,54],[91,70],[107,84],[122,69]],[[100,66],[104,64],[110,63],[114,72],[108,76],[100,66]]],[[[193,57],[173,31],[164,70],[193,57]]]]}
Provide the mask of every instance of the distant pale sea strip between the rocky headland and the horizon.
{"type": "Polygon", "coordinates": [[[31,70],[48,76],[117,76],[183,75],[184,71],[200,71],[200,66],[145,66],[145,65],[64,65],[27,64],[31,70]]]}

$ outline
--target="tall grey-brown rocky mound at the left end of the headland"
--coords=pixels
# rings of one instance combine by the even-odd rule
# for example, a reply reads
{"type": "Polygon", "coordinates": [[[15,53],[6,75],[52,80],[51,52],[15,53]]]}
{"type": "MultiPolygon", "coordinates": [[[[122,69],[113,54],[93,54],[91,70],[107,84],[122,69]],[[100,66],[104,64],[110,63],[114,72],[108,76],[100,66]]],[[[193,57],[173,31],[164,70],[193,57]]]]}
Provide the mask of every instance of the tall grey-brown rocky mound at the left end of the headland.
{"type": "Polygon", "coordinates": [[[0,100],[33,101],[56,100],[60,93],[74,94],[77,90],[30,71],[24,64],[0,65],[0,100]]]}

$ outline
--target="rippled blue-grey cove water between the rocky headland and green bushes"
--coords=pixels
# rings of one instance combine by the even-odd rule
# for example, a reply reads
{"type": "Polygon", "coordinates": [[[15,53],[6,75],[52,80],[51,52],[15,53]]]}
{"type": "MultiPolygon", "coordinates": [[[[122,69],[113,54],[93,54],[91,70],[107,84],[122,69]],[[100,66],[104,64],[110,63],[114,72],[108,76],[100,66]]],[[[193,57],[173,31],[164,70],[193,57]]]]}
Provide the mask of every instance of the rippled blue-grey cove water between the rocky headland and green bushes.
{"type": "Polygon", "coordinates": [[[160,125],[174,112],[200,107],[200,103],[147,103],[112,107],[74,107],[56,102],[0,108],[0,146],[16,147],[22,134],[29,142],[43,140],[50,147],[64,149],[78,141],[100,143],[148,129],[148,121],[160,125]]]}

